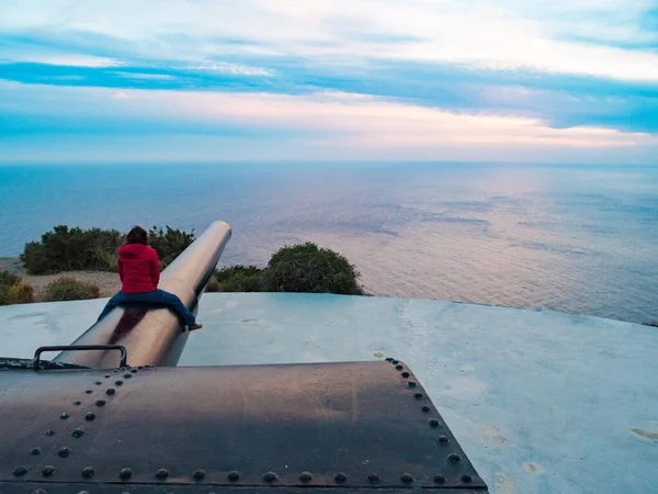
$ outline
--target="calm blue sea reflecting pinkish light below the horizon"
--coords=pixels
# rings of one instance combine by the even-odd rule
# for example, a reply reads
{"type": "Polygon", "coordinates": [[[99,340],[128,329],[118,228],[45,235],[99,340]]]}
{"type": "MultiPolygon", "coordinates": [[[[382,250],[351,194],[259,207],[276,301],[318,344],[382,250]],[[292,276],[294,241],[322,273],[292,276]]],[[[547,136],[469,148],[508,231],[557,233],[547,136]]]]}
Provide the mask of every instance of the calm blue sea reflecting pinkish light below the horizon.
{"type": "Polygon", "coordinates": [[[345,254],[378,295],[658,319],[658,168],[167,165],[0,168],[0,256],[57,224],[196,228],[224,263],[345,254]]]}

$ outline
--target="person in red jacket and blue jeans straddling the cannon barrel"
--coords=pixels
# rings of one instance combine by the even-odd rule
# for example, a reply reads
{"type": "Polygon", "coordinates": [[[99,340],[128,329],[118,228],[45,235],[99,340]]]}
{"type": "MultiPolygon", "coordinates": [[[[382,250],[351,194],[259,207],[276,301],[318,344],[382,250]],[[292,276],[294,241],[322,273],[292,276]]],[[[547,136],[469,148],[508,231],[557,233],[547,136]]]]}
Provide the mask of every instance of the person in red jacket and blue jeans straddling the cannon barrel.
{"type": "Polygon", "coordinates": [[[188,329],[200,329],[194,314],[173,293],[158,289],[160,263],[158,252],[148,246],[148,233],[134,226],[126,235],[125,245],[118,248],[118,278],[121,290],[103,308],[99,321],[114,307],[131,303],[152,303],[168,305],[181,317],[188,329]]]}

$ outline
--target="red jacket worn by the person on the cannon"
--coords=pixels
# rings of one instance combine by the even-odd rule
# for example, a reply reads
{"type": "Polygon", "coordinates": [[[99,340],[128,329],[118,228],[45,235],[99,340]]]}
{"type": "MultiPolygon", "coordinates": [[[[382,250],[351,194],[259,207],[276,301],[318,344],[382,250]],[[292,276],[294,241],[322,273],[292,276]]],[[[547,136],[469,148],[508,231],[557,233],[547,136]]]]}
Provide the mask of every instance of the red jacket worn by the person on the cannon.
{"type": "Polygon", "coordinates": [[[141,244],[120,247],[118,278],[123,293],[152,292],[160,281],[158,252],[141,244]]]}

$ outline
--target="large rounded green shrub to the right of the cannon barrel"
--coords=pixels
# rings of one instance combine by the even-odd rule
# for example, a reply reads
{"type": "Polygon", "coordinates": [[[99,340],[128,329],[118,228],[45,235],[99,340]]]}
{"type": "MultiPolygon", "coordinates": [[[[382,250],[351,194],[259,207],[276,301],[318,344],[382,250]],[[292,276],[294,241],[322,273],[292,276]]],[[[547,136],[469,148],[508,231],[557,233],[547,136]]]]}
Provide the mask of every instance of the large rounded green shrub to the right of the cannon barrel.
{"type": "Polygon", "coordinates": [[[359,276],[341,254],[306,243],[279,249],[270,259],[262,282],[270,292],[361,295],[359,276]]]}

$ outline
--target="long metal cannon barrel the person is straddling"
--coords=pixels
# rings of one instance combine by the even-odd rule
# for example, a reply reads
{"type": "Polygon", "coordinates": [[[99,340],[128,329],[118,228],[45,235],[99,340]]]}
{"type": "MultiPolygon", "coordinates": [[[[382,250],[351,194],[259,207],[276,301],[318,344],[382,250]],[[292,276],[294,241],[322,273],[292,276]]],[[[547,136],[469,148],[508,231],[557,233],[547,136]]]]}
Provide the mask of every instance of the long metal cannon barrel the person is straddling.
{"type": "MultiPolygon", "coordinates": [[[[178,295],[196,313],[201,297],[224,248],[230,239],[230,226],[214,222],[171,265],[162,271],[159,288],[178,295]]],[[[175,366],[189,332],[169,308],[155,305],[126,305],[114,308],[71,345],[112,345],[101,350],[66,350],[54,362],[92,369],[117,367],[120,352],[127,350],[128,366],[175,366]]]]}

